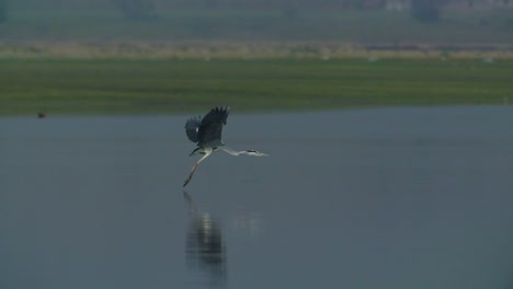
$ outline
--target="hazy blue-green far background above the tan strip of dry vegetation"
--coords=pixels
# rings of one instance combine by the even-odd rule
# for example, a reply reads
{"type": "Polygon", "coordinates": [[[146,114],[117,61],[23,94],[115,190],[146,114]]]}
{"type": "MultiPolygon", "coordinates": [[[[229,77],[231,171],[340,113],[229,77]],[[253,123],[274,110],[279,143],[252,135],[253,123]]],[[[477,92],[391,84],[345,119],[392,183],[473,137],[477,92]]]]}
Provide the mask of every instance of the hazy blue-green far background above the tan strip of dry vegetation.
{"type": "MultiPolygon", "coordinates": [[[[510,0],[0,0],[0,42],[330,42],[505,49],[510,0]]],[[[93,45],[90,43],[90,45],[93,45]]]]}

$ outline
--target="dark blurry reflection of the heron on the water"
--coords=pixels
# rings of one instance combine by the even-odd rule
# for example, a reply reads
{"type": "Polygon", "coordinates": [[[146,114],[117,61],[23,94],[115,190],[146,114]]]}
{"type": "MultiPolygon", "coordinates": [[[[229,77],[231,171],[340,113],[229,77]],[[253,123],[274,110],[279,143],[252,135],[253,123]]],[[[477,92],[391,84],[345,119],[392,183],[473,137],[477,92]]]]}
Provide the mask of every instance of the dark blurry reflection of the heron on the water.
{"type": "Polygon", "coordinates": [[[224,287],[227,276],[226,246],[220,223],[207,211],[200,210],[190,194],[183,192],[183,196],[191,219],[185,247],[187,265],[205,273],[212,287],[224,287]]]}

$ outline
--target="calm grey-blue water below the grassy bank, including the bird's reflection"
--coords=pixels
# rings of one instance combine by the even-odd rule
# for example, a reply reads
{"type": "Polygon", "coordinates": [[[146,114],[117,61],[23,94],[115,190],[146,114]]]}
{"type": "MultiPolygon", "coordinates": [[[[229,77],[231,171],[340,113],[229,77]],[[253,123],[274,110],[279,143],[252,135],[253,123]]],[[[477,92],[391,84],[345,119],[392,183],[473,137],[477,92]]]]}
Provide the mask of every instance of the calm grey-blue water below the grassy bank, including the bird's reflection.
{"type": "Polygon", "coordinates": [[[513,287],[513,109],[0,118],[1,288],[513,287]]]}

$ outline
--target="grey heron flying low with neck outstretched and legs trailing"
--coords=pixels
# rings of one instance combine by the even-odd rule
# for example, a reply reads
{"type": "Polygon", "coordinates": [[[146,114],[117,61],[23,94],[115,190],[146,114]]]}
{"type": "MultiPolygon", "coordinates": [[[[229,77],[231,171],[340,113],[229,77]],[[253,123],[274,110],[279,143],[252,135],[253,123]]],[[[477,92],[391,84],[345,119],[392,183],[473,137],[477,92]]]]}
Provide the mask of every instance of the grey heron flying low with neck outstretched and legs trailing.
{"type": "Polygon", "coordinates": [[[189,182],[191,182],[197,165],[216,150],[220,149],[231,155],[247,154],[253,157],[267,157],[267,154],[255,150],[235,151],[225,146],[221,140],[221,132],[223,126],[226,125],[229,112],[230,107],[215,107],[203,118],[201,118],[201,116],[192,117],[185,123],[185,134],[187,135],[187,138],[197,144],[197,148],[193,150],[190,155],[203,154],[203,157],[193,165],[191,174],[183,183],[184,187],[189,182]]]}

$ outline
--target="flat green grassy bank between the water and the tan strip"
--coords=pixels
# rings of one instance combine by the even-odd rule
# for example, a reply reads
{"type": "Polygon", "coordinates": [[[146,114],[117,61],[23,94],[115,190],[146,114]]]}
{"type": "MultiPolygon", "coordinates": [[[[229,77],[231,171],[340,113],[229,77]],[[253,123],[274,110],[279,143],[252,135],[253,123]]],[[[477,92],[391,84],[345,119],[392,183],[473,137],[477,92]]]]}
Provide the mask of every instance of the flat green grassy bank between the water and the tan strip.
{"type": "Polygon", "coordinates": [[[508,59],[0,60],[0,114],[513,103],[508,59]]]}

